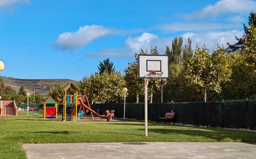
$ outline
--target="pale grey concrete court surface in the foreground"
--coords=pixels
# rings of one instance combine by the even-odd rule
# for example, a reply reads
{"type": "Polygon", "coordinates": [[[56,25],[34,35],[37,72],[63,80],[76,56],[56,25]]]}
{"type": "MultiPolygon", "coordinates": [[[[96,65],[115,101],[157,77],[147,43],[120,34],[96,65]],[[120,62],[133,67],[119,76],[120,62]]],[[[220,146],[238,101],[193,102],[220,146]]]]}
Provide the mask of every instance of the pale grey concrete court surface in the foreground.
{"type": "Polygon", "coordinates": [[[24,144],[27,158],[255,158],[256,145],[227,142],[24,144]]]}

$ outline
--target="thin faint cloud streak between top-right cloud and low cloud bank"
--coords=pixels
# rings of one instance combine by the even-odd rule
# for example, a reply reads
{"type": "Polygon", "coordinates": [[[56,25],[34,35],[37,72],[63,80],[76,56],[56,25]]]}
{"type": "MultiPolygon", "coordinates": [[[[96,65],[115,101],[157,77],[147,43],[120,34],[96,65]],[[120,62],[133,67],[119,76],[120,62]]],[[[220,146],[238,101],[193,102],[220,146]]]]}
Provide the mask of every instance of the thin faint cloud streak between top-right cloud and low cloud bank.
{"type": "Polygon", "coordinates": [[[203,30],[221,30],[239,28],[240,24],[209,24],[209,23],[172,23],[158,25],[160,30],[165,32],[181,32],[181,31],[203,31],[203,30]]]}

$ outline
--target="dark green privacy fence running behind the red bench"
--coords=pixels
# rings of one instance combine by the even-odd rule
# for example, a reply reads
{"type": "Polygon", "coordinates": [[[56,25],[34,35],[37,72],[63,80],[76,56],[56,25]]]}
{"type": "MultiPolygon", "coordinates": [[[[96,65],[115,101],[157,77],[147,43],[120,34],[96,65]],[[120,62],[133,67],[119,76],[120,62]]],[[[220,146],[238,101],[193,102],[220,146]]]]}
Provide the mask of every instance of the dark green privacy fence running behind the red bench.
{"type": "MultiPolygon", "coordinates": [[[[94,110],[104,114],[116,110],[116,117],[124,116],[124,103],[92,105],[94,110]]],[[[149,120],[157,121],[159,115],[173,110],[176,122],[196,126],[256,129],[256,101],[220,101],[189,103],[149,103],[149,120]]],[[[144,119],[144,103],[126,103],[126,118],[144,119]]]]}

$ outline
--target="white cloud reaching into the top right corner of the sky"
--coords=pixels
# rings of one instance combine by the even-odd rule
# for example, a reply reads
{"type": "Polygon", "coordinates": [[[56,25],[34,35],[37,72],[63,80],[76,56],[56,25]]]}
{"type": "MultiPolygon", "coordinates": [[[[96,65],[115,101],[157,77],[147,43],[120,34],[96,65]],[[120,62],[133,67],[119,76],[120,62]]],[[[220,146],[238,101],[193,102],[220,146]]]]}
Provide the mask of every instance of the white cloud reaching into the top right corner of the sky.
{"type": "Polygon", "coordinates": [[[214,17],[224,13],[244,13],[256,8],[256,2],[252,0],[221,0],[215,4],[204,7],[201,11],[184,15],[185,19],[200,19],[204,17],[214,17]]]}

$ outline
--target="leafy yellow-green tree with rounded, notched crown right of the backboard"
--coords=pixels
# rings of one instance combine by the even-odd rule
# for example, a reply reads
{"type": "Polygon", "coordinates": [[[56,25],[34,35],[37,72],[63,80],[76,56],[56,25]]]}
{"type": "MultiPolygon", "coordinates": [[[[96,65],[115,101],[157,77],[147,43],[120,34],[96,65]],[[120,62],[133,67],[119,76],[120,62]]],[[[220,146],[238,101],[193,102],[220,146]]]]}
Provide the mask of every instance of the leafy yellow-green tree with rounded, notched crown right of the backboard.
{"type": "Polygon", "coordinates": [[[206,92],[221,93],[221,85],[229,81],[232,69],[223,48],[218,48],[213,54],[209,54],[206,48],[196,48],[194,56],[185,62],[185,74],[192,84],[203,89],[206,102],[206,92]]]}

